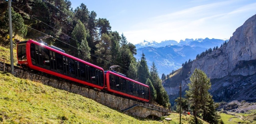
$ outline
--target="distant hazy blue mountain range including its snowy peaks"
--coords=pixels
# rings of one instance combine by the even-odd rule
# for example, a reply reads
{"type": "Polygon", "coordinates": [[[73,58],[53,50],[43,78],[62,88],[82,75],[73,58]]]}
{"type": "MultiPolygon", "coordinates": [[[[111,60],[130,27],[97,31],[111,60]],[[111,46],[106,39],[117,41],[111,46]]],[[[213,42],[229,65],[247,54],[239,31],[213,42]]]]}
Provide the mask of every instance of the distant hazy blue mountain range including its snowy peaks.
{"type": "Polygon", "coordinates": [[[152,62],[158,69],[159,76],[162,73],[169,74],[172,70],[177,70],[182,67],[189,59],[193,60],[197,54],[204,52],[206,49],[220,46],[224,40],[221,39],[185,39],[176,42],[174,40],[165,40],[160,43],[155,41],[144,41],[136,44],[137,55],[136,59],[141,58],[142,52],[151,67],[152,62]]]}

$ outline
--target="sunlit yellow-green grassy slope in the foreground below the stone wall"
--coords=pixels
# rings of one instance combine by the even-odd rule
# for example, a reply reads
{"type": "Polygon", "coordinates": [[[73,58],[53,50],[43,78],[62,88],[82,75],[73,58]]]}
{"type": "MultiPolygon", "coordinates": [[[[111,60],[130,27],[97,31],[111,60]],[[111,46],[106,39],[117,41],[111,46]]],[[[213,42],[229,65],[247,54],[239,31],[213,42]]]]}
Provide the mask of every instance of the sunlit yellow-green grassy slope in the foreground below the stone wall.
{"type": "MultiPolygon", "coordinates": [[[[178,123],[172,113],[167,122],[178,123]]],[[[193,121],[183,116],[184,124],[193,121]]],[[[0,123],[159,123],[138,119],[83,96],[0,72],[0,123]]],[[[206,123],[203,122],[202,123],[206,123]]]]}

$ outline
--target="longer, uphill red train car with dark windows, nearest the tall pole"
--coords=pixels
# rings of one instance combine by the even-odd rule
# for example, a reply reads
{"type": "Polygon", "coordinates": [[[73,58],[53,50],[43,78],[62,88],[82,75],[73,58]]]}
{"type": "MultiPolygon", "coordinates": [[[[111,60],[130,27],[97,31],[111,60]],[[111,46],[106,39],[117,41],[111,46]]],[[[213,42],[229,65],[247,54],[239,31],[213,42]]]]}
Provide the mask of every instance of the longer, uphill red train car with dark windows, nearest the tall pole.
{"type": "Polygon", "coordinates": [[[19,42],[18,65],[78,82],[97,89],[104,89],[105,75],[101,67],[33,40],[19,42]]]}

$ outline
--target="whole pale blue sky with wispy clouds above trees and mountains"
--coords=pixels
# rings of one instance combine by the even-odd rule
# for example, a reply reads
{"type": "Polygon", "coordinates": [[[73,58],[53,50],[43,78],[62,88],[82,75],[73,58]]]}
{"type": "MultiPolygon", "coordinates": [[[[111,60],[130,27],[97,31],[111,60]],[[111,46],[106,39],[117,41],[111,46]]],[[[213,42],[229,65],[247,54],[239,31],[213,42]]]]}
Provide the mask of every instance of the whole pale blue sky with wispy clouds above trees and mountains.
{"type": "Polygon", "coordinates": [[[70,0],[84,3],[128,42],[226,39],[256,14],[255,0],[70,0]]]}

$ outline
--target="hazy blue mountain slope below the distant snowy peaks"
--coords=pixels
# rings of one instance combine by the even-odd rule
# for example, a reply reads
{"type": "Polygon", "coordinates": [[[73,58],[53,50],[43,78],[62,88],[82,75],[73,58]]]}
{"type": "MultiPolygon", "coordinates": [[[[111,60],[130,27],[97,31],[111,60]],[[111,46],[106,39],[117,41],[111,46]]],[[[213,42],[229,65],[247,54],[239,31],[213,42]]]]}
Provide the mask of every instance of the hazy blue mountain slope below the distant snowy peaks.
{"type": "MultiPolygon", "coordinates": [[[[170,71],[179,69],[185,61],[195,58],[195,56],[205,51],[206,48],[168,45],[165,47],[144,47],[137,49],[136,59],[141,58],[142,52],[146,55],[148,66],[151,67],[152,62],[158,69],[158,72],[169,74],[170,71]]],[[[161,77],[161,74],[159,74],[161,77]]]]}

